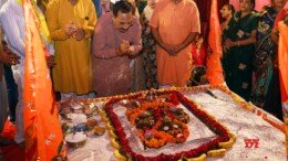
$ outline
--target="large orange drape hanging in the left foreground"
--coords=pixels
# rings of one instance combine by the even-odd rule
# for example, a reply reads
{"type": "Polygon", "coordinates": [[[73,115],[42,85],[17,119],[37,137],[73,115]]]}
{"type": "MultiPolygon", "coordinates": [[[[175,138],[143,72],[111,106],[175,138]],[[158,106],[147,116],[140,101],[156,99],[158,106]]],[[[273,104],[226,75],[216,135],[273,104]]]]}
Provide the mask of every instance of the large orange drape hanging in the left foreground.
{"type": "Polygon", "coordinates": [[[38,21],[30,0],[23,3],[25,18],[25,64],[23,116],[25,160],[49,161],[59,154],[63,141],[38,21]]]}

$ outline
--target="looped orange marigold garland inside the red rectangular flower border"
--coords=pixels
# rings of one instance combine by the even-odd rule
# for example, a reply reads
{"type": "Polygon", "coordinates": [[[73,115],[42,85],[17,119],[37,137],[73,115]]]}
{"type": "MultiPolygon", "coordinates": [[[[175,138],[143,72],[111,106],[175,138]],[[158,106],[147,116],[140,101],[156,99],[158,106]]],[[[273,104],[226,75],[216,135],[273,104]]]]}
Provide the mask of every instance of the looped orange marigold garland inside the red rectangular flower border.
{"type": "MultiPolygon", "coordinates": [[[[172,118],[172,124],[176,126],[176,128],[181,129],[183,132],[173,131],[173,133],[168,133],[167,131],[161,131],[160,127],[163,125],[163,118],[162,112],[167,112],[168,108],[173,107],[174,105],[177,105],[178,101],[176,100],[176,96],[173,95],[173,103],[167,101],[148,101],[143,103],[138,108],[135,109],[127,109],[126,110],[126,117],[128,118],[130,122],[135,126],[137,118],[145,114],[147,110],[152,109],[154,114],[154,120],[156,120],[156,124],[152,129],[150,130],[142,130],[137,128],[137,135],[141,138],[144,146],[148,148],[161,148],[165,146],[167,142],[173,143],[182,143],[186,141],[186,139],[189,136],[188,127],[175,119],[175,117],[168,115],[169,118],[172,118]],[[175,104],[176,103],[176,104],[175,104]]],[[[167,129],[168,130],[168,129],[167,129]]]]}

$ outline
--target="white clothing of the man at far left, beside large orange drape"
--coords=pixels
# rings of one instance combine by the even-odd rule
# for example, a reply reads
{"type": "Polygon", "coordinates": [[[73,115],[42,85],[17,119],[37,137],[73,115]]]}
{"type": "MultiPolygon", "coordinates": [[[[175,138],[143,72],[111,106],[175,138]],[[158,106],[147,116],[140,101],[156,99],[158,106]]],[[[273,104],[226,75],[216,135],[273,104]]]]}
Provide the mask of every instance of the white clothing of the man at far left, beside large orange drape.
{"type": "Polygon", "coordinates": [[[24,141],[23,133],[23,75],[24,75],[24,12],[20,0],[8,0],[0,9],[0,23],[3,30],[6,42],[12,53],[20,60],[19,64],[12,66],[13,76],[18,85],[19,101],[16,109],[16,142],[24,141]]]}

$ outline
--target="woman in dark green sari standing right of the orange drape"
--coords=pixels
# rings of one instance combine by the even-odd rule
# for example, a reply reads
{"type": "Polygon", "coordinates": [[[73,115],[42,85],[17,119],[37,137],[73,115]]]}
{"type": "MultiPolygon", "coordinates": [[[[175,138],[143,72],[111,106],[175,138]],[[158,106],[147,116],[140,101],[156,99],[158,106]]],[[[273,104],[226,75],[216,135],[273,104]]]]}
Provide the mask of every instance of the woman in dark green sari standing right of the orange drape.
{"type": "Polygon", "coordinates": [[[226,75],[226,83],[230,90],[246,100],[250,99],[254,43],[258,25],[254,7],[255,0],[240,0],[240,11],[234,14],[223,35],[230,71],[229,75],[226,75]]]}

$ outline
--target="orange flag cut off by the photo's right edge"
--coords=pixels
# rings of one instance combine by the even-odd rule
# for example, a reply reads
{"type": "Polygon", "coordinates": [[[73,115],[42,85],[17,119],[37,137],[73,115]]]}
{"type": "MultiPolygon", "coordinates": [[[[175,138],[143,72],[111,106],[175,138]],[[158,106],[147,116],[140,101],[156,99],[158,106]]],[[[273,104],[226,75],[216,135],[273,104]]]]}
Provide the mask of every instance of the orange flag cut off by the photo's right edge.
{"type": "Polygon", "coordinates": [[[278,28],[280,33],[278,46],[279,77],[286,135],[286,154],[288,155],[288,26],[281,21],[278,23],[278,28]]]}

